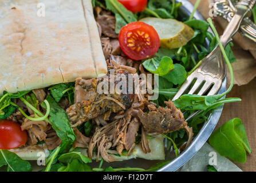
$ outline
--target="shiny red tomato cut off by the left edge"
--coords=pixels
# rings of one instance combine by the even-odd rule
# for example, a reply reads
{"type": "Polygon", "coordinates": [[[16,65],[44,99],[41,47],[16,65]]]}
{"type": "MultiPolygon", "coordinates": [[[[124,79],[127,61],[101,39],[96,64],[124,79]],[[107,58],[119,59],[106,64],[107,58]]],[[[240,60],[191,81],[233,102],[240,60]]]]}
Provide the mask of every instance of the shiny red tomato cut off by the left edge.
{"type": "Polygon", "coordinates": [[[14,149],[24,145],[27,132],[21,130],[17,122],[0,120],[0,149],[14,149]]]}

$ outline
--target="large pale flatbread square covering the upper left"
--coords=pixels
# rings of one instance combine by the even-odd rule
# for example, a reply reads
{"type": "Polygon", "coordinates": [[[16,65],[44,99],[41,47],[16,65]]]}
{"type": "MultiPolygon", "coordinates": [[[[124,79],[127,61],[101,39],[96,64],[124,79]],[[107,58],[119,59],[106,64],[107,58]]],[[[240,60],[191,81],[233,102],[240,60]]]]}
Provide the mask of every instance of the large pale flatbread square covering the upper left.
{"type": "Polygon", "coordinates": [[[0,94],[107,74],[91,0],[1,0],[0,67],[0,94]]]}

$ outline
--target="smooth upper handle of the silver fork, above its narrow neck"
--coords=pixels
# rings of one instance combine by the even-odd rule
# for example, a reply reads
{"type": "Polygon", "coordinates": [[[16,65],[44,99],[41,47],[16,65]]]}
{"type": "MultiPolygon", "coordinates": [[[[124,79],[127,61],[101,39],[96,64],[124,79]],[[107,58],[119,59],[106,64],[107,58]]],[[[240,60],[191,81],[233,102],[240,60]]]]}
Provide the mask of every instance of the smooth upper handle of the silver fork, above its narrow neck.
{"type": "Polygon", "coordinates": [[[226,46],[230,41],[232,41],[232,37],[235,33],[237,33],[243,18],[249,13],[256,4],[256,0],[242,0],[237,3],[236,12],[234,17],[231,19],[229,25],[226,27],[221,42],[223,46],[226,46]]]}

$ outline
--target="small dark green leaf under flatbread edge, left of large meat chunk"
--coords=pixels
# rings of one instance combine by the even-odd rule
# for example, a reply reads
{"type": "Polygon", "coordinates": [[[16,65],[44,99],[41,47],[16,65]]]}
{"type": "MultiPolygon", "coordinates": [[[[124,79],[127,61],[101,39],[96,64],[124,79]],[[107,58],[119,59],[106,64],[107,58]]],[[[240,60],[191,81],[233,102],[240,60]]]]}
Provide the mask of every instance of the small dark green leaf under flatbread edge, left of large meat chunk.
{"type": "Polygon", "coordinates": [[[65,90],[74,87],[74,83],[60,83],[49,88],[50,94],[53,96],[56,102],[60,102],[61,98],[64,96],[65,90]]]}

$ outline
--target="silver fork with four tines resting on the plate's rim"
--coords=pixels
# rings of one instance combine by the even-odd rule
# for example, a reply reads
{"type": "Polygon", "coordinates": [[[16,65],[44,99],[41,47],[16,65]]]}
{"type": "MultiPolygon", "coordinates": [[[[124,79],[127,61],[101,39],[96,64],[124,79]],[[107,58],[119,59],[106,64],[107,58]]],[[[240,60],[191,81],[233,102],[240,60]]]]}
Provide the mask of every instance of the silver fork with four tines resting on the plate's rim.
{"type": "MultiPolygon", "coordinates": [[[[243,18],[251,13],[254,5],[256,4],[256,0],[242,0],[237,3],[234,17],[231,19],[229,25],[226,27],[220,41],[223,46],[226,47],[232,41],[232,37],[235,33],[237,33],[243,18]]],[[[188,94],[197,93],[199,96],[203,96],[210,89],[210,91],[206,94],[207,96],[214,95],[218,93],[220,86],[222,85],[222,81],[225,78],[226,69],[225,69],[225,61],[220,50],[219,46],[216,46],[215,49],[202,60],[201,65],[190,74],[183,85],[180,87],[178,93],[172,99],[175,101],[182,94],[188,90],[188,87],[191,87],[192,82],[195,81],[194,85],[188,92],[188,94]],[[200,89],[200,87],[202,87],[200,89]]],[[[196,113],[191,114],[186,121],[190,120],[196,113]]]]}

